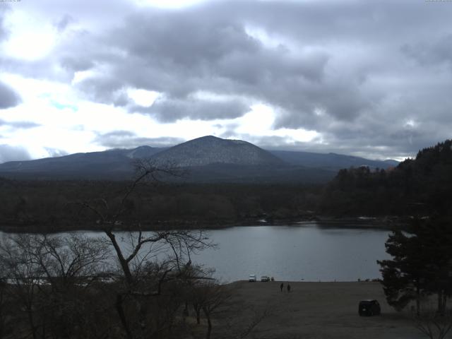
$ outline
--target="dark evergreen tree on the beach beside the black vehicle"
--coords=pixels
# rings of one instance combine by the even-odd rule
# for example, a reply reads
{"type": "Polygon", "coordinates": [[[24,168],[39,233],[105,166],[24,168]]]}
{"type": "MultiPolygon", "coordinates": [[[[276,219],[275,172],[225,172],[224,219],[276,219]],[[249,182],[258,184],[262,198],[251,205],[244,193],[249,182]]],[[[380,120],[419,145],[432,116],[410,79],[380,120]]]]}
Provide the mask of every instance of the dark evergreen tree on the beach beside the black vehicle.
{"type": "Polygon", "coordinates": [[[383,290],[388,304],[401,310],[416,301],[417,314],[423,295],[436,294],[440,314],[452,285],[452,230],[448,220],[415,219],[410,234],[393,232],[386,241],[392,260],[377,261],[381,266],[383,290]]]}

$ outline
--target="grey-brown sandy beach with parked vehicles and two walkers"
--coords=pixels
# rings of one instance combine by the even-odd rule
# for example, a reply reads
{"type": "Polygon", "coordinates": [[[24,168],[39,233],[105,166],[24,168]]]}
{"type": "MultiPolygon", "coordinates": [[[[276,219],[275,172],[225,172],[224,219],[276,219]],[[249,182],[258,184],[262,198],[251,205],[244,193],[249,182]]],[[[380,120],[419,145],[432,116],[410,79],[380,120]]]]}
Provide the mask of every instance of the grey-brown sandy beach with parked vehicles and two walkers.
{"type": "MultiPolygon", "coordinates": [[[[290,283],[290,293],[286,288],[280,292],[280,283],[230,284],[232,297],[227,310],[215,316],[212,338],[240,338],[239,333],[264,312],[268,315],[246,338],[425,338],[413,326],[409,312],[398,313],[388,306],[380,283],[284,281],[285,287],[290,283]],[[359,316],[362,299],[378,299],[381,316],[359,316]]],[[[198,330],[201,335],[202,328],[198,330]]]]}

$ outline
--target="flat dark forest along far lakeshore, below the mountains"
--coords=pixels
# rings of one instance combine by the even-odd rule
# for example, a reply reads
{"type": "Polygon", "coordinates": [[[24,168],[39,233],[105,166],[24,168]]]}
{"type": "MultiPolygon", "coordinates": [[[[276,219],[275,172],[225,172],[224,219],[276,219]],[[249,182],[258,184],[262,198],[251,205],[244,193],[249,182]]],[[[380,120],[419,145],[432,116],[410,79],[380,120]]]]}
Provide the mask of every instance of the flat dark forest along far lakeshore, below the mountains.
{"type": "MultiPolygon", "coordinates": [[[[81,213],[83,201],[121,202],[130,182],[1,181],[0,223],[4,229],[57,231],[91,229],[96,218],[81,213]]],[[[165,184],[145,182],[128,198],[124,225],[218,227],[258,220],[311,218],[322,186],[287,184],[165,184]]]]}

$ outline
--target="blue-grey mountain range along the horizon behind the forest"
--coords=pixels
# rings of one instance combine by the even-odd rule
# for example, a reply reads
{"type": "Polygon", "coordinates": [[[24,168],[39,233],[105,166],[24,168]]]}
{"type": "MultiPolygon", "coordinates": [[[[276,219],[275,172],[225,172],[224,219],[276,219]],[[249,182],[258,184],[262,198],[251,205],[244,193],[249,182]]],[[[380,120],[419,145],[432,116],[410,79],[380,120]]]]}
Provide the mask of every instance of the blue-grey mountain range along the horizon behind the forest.
{"type": "Polygon", "coordinates": [[[76,153],[0,164],[0,176],[23,179],[128,179],[134,159],[188,169],[189,182],[326,182],[348,167],[388,168],[395,160],[367,160],[335,153],[263,150],[246,141],[203,136],[171,148],[76,153]]]}

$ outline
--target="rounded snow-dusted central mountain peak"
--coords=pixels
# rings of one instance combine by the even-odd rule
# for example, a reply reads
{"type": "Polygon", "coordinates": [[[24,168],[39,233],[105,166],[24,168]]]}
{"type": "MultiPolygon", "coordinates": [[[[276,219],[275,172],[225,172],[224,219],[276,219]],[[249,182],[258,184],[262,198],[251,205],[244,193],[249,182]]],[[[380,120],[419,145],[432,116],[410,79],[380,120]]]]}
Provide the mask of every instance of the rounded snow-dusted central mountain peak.
{"type": "Polygon", "coordinates": [[[157,162],[169,162],[180,167],[212,164],[284,165],[283,160],[252,143],[203,136],[164,150],[154,157],[157,162]]]}

